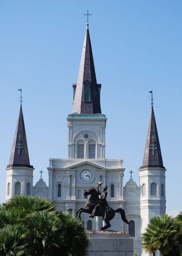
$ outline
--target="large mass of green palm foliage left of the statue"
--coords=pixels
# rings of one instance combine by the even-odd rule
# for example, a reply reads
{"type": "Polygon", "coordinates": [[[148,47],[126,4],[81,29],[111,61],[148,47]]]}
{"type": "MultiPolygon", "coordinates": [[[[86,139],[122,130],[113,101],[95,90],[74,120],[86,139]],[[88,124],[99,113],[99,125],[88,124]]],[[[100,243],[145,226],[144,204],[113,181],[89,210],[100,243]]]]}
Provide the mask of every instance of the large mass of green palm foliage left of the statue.
{"type": "Polygon", "coordinates": [[[50,200],[18,195],[0,206],[0,256],[84,256],[88,244],[82,222],[50,200]]]}

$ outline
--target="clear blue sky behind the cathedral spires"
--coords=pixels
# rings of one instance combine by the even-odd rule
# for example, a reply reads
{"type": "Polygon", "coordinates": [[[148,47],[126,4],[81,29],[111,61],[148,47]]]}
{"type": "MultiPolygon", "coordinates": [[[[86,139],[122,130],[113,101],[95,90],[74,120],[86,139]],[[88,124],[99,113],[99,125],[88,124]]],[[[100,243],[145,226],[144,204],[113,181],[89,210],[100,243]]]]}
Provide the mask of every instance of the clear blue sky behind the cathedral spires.
{"type": "Polygon", "coordinates": [[[182,1],[0,1],[0,201],[23,88],[23,114],[34,183],[48,159],[67,158],[72,110],[86,29],[86,10],[101,107],[106,158],[123,158],[139,184],[154,92],[167,212],[182,210],[182,1]]]}

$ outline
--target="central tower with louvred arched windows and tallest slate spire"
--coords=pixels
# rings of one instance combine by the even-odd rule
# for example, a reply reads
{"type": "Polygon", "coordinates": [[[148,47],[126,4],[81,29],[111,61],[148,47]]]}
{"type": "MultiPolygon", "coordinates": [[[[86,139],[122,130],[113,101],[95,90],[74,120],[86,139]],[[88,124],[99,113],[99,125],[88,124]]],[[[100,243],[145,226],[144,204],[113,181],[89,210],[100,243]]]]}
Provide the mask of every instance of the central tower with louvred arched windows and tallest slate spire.
{"type": "Polygon", "coordinates": [[[88,24],[78,80],[73,84],[74,102],[68,115],[68,158],[104,159],[107,118],[100,109],[101,84],[96,81],[88,24]]]}

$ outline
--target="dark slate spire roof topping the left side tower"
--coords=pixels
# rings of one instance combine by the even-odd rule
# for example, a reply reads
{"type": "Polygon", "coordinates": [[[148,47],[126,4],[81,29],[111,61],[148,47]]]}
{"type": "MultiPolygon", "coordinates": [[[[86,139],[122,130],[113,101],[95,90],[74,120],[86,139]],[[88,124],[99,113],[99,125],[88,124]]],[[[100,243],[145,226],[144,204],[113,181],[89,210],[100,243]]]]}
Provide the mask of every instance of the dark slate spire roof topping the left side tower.
{"type": "Polygon", "coordinates": [[[11,166],[27,166],[33,168],[30,165],[27,138],[25,133],[25,125],[23,120],[22,107],[20,106],[20,113],[16,125],[15,136],[13,140],[13,146],[9,159],[9,165],[11,166]]]}

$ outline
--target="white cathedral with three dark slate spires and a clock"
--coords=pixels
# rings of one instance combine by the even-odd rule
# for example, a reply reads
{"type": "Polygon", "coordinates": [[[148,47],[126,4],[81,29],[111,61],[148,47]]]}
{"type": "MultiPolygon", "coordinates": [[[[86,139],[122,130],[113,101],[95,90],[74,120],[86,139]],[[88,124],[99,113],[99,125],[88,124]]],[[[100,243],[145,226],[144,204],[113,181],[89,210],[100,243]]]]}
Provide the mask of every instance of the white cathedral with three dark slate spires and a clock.
{"type": "MultiPolygon", "coordinates": [[[[101,84],[96,80],[87,24],[78,80],[73,84],[73,109],[67,116],[68,158],[50,158],[47,167],[48,186],[42,178],[33,186],[34,168],[29,159],[23,110],[20,106],[6,168],[5,200],[14,194],[46,197],[52,200],[58,210],[75,215],[86,204],[84,191],[91,186],[95,187],[98,181],[103,181],[102,186],[108,187],[108,205],[113,209],[124,209],[130,223],[123,223],[120,214],[116,213],[110,229],[129,233],[138,256],[151,256],[142,250],[141,234],[145,232],[152,217],[165,214],[166,210],[166,169],[163,166],[154,109],[152,106],[143,164],[139,168],[139,186],[132,177],[124,184],[123,159],[105,158],[107,118],[101,112],[100,93],[101,84]]],[[[98,230],[105,225],[102,217],[90,218],[86,213],[82,213],[82,220],[84,227],[89,230],[98,230]]]]}

